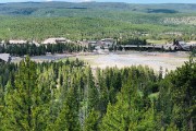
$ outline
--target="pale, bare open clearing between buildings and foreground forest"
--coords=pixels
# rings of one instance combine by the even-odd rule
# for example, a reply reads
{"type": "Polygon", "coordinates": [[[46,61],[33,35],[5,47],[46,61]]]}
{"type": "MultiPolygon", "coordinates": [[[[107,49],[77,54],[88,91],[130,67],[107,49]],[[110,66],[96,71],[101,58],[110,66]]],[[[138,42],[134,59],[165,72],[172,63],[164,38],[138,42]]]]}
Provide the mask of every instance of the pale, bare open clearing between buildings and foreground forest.
{"type": "MultiPolygon", "coordinates": [[[[108,55],[96,56],[76,56],[79,60],[84,60],[93,68],[105,69],[107,67],[131,67],[131,66],[148,66],[155,71],[162,71],[167,69],[175,70],[185,61],[188,61],[188,53],[186,52],[114,52],[108,55]]],[[[75,59],[75,57],[71,58],[75,59]]]]}

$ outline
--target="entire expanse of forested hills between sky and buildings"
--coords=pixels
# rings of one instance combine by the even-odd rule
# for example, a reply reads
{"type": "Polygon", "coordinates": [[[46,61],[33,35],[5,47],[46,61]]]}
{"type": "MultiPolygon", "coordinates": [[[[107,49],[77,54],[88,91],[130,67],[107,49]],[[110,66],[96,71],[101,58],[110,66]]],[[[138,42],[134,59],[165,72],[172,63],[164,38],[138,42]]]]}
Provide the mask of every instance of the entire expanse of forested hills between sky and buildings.
{"type": "Polygon", "coordinates": [[[0,39],[122,37],[196,39],[196,4],[21,2],[0,4],[0,39]],[[182,35],[181,35],[182,34],[182,35]]]}

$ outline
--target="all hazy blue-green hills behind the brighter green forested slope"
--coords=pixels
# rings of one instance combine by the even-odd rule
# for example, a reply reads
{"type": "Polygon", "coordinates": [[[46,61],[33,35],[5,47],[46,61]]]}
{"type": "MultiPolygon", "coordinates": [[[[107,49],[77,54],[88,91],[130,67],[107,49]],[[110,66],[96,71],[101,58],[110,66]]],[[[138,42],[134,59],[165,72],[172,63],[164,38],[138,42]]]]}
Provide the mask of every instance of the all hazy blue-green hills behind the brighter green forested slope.
{"type": "Polygon", "coordinates": [[[176,16],[193,16],[195,14],[196,4],[182,3],[130,4],[115,2],[17,2],[0,4],[0,15],[36,17],[99,17],[135,24],[167,24],[166,19],[171,20],[168,17],[175,19],[176,16]]]}

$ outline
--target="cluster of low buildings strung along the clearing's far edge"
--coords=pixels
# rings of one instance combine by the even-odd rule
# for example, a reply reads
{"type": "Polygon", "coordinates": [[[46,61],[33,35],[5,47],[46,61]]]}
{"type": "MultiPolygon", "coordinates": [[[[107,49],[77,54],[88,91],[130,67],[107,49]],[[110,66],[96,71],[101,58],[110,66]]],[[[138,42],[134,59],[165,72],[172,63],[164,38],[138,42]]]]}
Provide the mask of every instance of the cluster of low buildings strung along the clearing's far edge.
{"type": "MultiPolygon", "coordinates": [[[[27,40],[9,40],[9,41],[0,41],[0,45],[23,45],[23,44],[35,44],[36,46],[39,46],[40,44],[36,41],[27,41],[27,40]]],[[[105,38],[100,40],[78,40],[78,41],[71,41],[70,39],[63,38],[63,37],[57,37],[57,38],[48,38],[45,39],[41,45],[48,45],[48,44],[78,44],[81,46],[91,46],[95,48],[94,51],[101,52],[101,51],[109,51],[109,47],[112,47],[113,45],[117,45],[117,39],[113,38],[105,38]]],[[[123,49],[135,49],[138,48],[138,45],[121,45],[123,49]]],[[[185,43],[185,41],[177,41],[176,44],[159,44],[159,45],[144,45],[139,46],[140,48],[145,49],[166,49],[166,50],[185,50],[189,51],[192,48],[196,49],[196,41],[192,43],[185,43]]],[[[0,61],[9,62],[11,61],[11,56],[9,53],[0,53],[0,61]]]]}

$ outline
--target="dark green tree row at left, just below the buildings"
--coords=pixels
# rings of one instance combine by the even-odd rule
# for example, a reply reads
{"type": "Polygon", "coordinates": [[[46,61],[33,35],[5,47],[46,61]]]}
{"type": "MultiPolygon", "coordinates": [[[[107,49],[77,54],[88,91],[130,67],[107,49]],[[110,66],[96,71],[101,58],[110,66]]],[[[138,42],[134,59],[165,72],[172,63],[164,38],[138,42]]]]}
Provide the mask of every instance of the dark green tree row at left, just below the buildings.
{"type": "Polygon", "coordinates": [[[11,53],[12,56],[40,56],[50,53],[63,52],[79,52],[93,50],[91,47],[85,47],[76,44],[48,44],[36,46],[35,44],[24,45],[0,45],[0,53],[11,53]]]}

